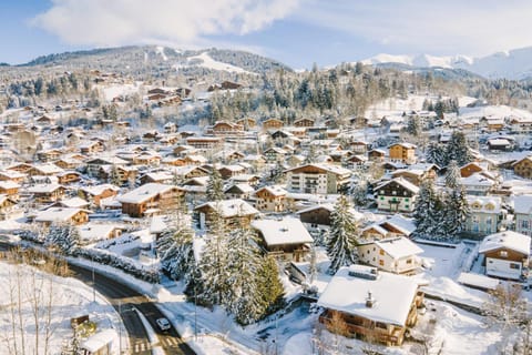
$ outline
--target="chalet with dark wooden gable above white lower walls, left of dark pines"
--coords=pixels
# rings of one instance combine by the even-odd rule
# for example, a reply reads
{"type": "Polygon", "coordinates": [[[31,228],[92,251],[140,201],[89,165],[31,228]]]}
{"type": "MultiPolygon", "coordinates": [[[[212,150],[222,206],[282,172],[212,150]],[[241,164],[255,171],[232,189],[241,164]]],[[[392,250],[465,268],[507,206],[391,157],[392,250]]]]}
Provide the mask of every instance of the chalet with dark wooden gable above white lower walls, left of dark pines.
{"type": "Polygon", "coordinates": [[[419,187],[402,178],[396,178],[378,185],[374,192],[379,210],[410,213],[413,211],[419,187]]]}

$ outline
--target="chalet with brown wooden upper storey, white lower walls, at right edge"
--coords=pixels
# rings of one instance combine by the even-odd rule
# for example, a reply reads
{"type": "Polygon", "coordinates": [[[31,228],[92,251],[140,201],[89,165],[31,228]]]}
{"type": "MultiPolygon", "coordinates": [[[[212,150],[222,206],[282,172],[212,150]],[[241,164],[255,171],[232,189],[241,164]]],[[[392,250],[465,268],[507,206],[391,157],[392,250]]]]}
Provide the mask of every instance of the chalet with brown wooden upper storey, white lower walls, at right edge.
{"type": "Polygon", "coordinates": [[[513,231],[488,235],[479,246],[485,274],[500,278],[523,280],[529,275],[530,236],[513,231]]]}

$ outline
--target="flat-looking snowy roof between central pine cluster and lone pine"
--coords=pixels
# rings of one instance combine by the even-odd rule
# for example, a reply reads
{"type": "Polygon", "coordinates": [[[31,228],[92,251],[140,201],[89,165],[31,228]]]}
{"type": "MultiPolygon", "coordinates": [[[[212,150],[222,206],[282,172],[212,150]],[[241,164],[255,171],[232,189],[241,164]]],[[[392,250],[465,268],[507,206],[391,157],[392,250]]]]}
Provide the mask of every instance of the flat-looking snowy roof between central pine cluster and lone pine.
{"type": "Polygon", "coordinates": [[[252,226],[260,232],[268,246],[314,242],[307,229],[298,219],[258,220],[252,221],[252,226]]]}

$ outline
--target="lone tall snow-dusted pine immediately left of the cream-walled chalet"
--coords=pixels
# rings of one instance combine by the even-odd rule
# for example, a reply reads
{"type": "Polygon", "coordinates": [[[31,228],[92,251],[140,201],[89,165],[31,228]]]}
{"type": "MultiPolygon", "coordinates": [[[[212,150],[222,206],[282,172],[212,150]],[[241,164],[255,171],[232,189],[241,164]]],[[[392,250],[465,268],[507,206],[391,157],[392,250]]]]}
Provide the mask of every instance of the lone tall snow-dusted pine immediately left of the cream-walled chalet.
{"type": "Polygon", "coordinates": [[[351,265],[357,258],[358,230],[349,207],[347,197],[340,195],[330,215],[327,255],[330,258],[329,273],[331,274],[341,266],[351,265]]]}

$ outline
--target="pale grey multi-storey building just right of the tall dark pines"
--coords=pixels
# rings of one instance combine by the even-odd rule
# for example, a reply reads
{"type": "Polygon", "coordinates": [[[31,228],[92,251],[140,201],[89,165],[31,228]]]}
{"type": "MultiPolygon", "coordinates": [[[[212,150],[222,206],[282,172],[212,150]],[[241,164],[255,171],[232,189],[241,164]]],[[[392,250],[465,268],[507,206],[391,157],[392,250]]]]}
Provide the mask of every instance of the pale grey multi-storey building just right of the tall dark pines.
{"type": "Polygon", "coordinates": [[[503,220],[501,197],[468,196],[469,215],[466,232],[474,235],[489,235],[499,232],[503,220]]]}

